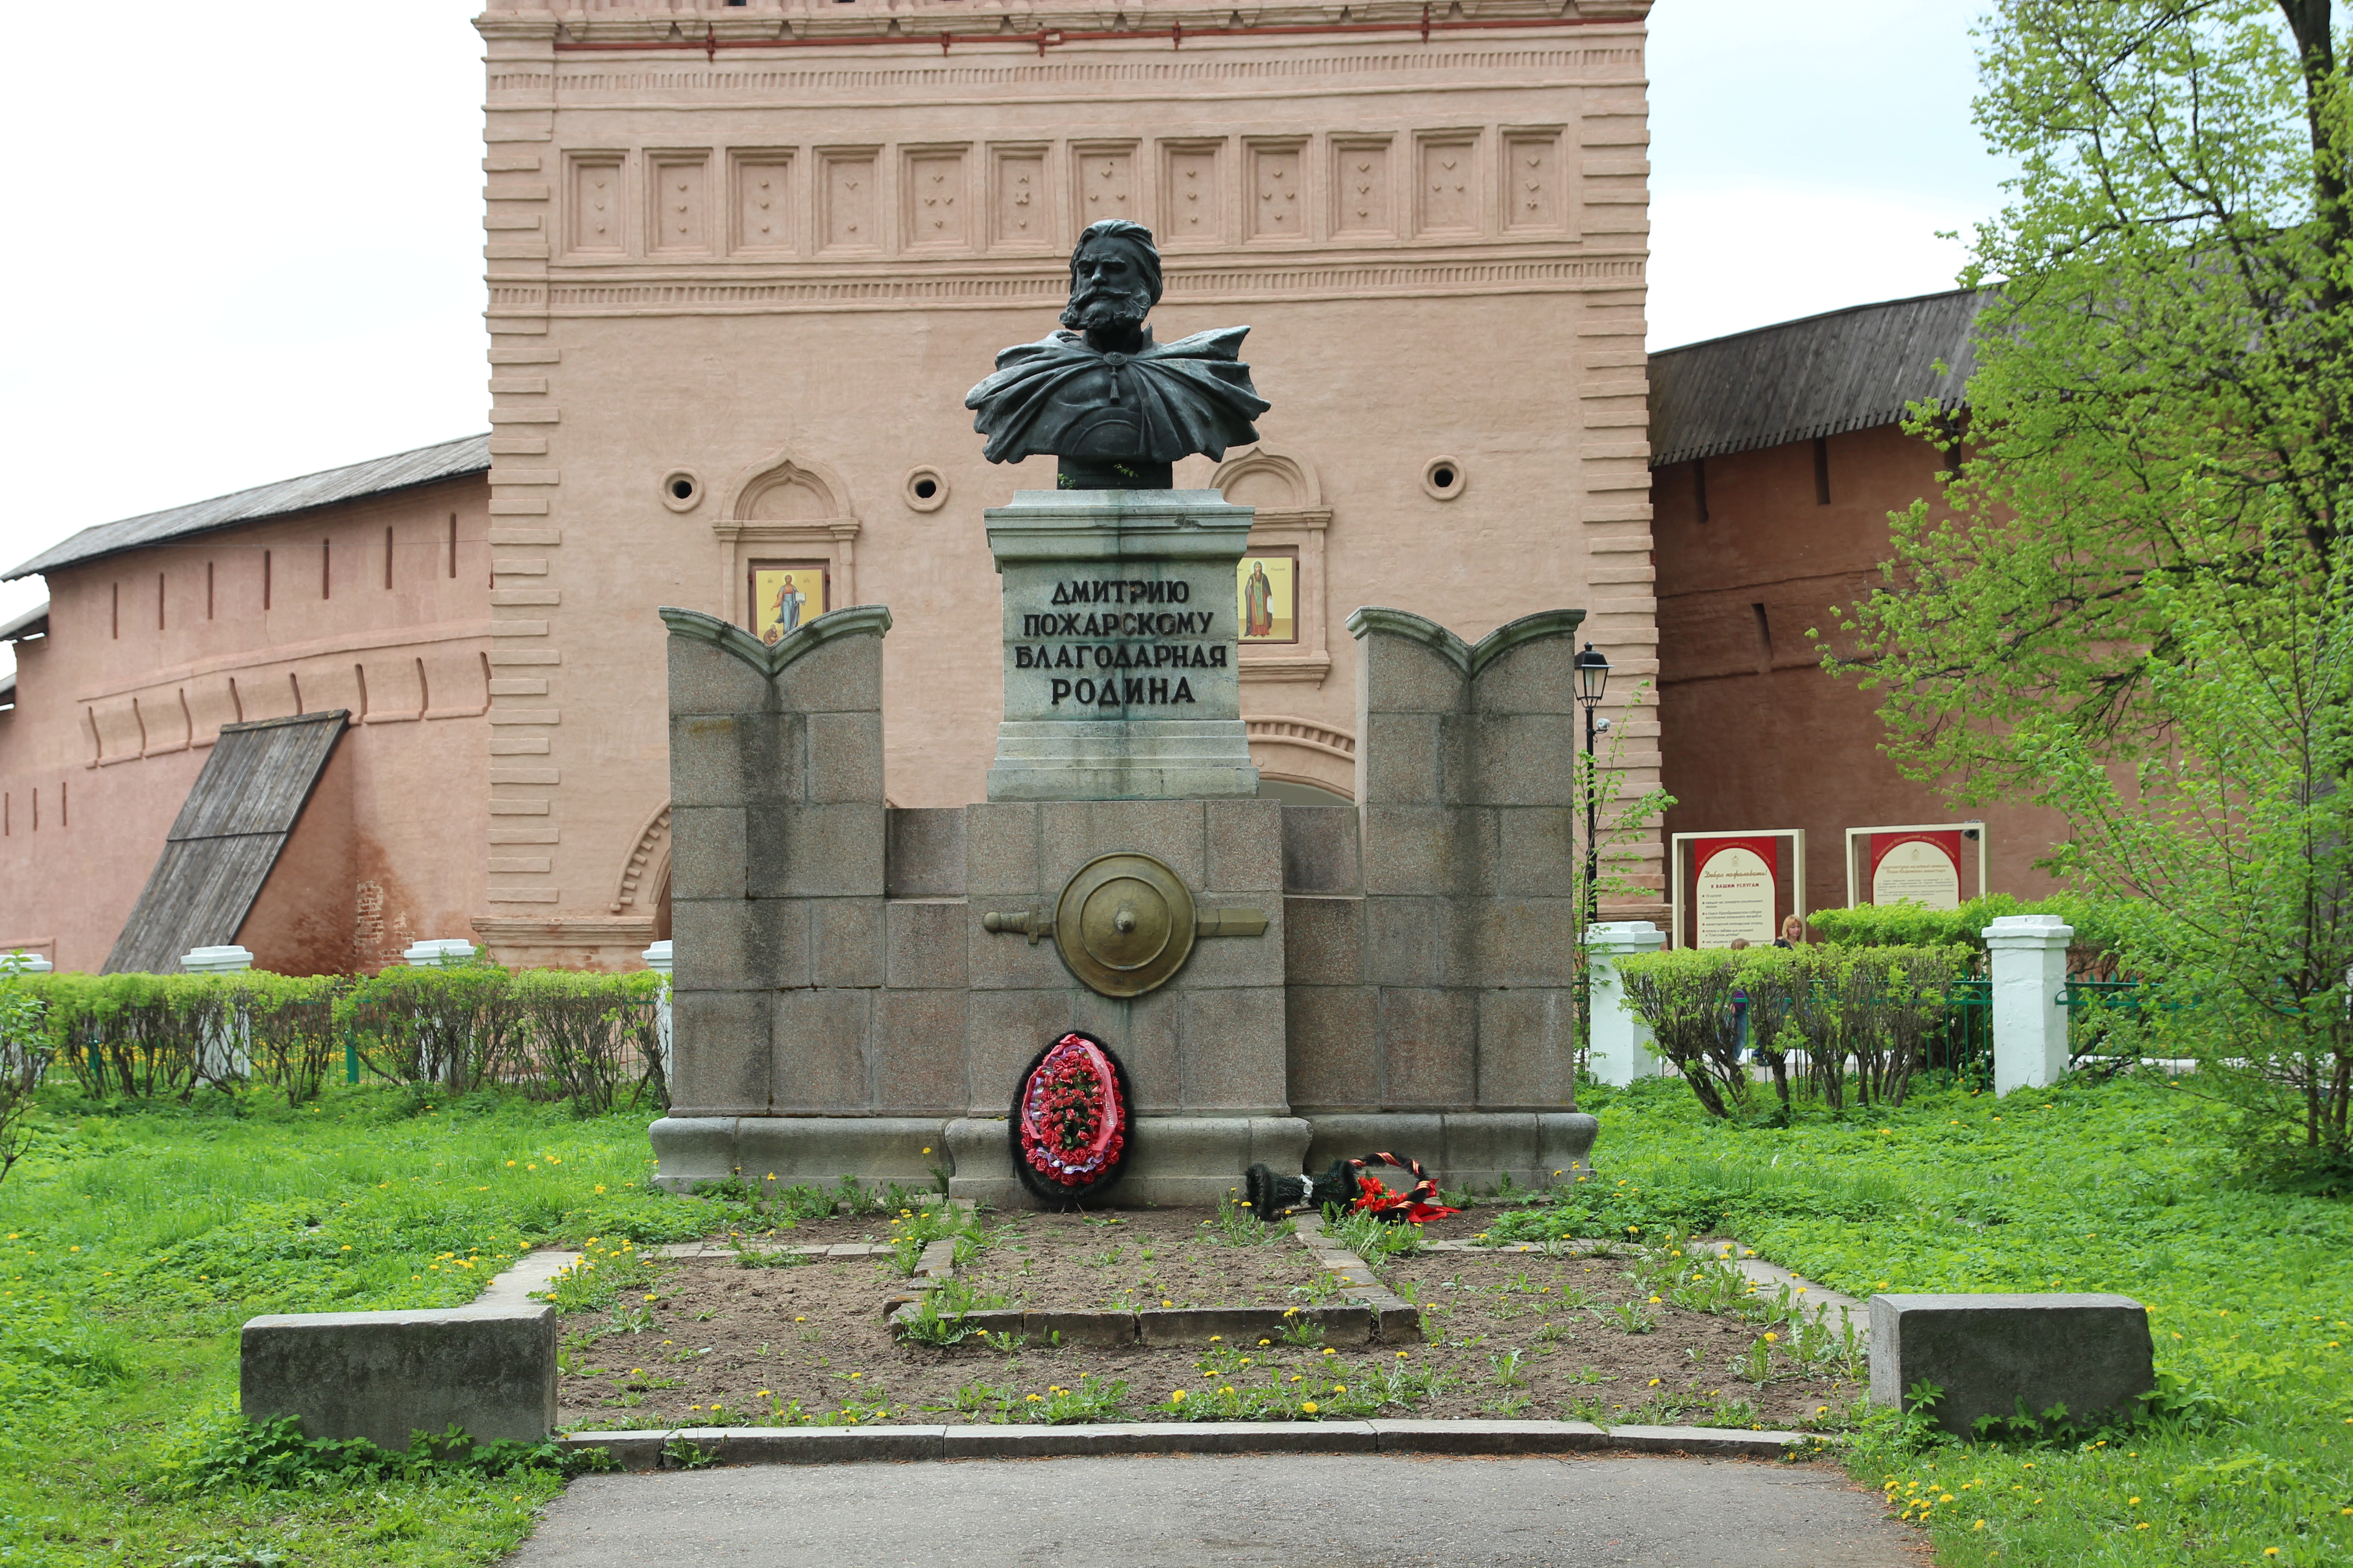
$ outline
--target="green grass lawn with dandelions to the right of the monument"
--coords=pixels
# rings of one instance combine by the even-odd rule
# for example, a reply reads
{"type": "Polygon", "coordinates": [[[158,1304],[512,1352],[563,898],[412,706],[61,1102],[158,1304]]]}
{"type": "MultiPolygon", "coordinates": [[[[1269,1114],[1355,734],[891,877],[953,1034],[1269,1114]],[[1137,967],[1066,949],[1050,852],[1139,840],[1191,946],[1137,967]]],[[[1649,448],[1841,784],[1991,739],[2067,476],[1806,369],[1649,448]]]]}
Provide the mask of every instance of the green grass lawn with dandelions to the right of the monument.
{"type": "Polygon", "coordinates": [[[2205,1420],[2111,1443],[1906,1455],[1857,1479],[1969,1563],[2353,1563],[2353,1204],[2231,1182],[2217,1124],[2162,1077],[1944,1091],[1901,1112],[1734,1128],[1678,1081],[1593,1093],[1595,1220],[1734,1234],[1838,1291],[2120,1291],[2205,1420]]]}

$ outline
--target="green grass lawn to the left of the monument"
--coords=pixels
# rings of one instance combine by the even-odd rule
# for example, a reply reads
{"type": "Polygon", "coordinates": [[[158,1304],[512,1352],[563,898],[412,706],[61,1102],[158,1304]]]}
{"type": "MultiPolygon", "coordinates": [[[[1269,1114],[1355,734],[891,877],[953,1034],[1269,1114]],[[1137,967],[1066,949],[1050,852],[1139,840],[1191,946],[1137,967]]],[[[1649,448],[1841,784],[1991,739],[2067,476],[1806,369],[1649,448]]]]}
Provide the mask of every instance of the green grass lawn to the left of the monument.
{"type": "Polygon", "coordinates": [[[59,1100],[0,1182],[0,1563],[496,1559],[558,1481],[174,1497],[160,1465],[235,1408],[247,1316],[445,1307],[534,1244],[699,1234],[711,1204],[645,1185],[645,1121],[407,1091],[59,1100]]]}

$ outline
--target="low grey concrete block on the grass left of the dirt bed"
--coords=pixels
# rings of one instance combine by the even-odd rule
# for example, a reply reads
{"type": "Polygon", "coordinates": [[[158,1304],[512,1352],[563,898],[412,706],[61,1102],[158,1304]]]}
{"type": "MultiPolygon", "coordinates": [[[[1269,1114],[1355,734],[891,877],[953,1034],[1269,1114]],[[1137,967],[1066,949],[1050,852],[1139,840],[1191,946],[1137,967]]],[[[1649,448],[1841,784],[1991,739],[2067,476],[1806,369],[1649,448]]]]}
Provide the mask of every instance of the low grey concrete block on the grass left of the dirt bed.
{"type": "Polygon", "coordinates": [[[407,1448],[452,1422],[482,1441],[555,1432],[555,1307],[289,1312],[245,1324],[249,1420],[299,1415],[304,1436],[407,1448]]]}

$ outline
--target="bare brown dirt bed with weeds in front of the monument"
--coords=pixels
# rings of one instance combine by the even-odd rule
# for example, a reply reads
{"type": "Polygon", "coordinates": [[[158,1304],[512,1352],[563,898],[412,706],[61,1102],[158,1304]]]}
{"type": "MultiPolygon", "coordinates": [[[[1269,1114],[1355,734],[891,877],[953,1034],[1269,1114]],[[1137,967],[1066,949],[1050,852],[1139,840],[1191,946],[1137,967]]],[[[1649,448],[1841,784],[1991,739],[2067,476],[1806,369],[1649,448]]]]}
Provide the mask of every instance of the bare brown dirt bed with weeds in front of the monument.
{"type": "MultiPolygon", "coordinates": [[[[1297,1300],[1289,1291],[1313,1274],[1297,1239],[1221,1246],[1205,1237],[1209,1218],[986,1215],[993,1246],[958,1279],[1033,1307],[1297,1300]]],[[[805,1222],[776,1241],[887,1241],[889,1229],[887,1215],[805,1222]]],[[[569,1427],[591,1429],[1369,1415],[1842,1425],[1859,1366],[1798,1363],[1791,1333],[1753,1359],[1765,1328],[1649,1302],[1631,1269],[1544,1253],[1384,1260],[1381,1279],[1424,1305],[1426,1345],[1082,1347],[998,1335],[936,1349],[889,1335],[885,1302],[911,1293],[889,1258],[755,1269],[689,1258],[661,1265],[649,1291],[562,1319],[562,1406],[569,1427]],[[1649,1331],[1628,1333],[1642,1321],[1649,1331]]]]}

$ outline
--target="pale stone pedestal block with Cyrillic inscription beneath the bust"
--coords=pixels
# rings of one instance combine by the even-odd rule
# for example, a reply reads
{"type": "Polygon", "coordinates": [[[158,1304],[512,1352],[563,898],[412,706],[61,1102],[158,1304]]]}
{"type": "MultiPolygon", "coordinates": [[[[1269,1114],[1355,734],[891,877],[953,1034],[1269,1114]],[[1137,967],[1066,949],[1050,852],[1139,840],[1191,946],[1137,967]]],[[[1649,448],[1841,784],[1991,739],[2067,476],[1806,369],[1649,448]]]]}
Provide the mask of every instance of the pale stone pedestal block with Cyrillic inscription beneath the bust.
{"type": "Polygon", "coordinates": [[[1214,489],[1024,489],[986,512],[1005,578],[988,799],[1259,792],[1235,661],[1252,515],[1214,489]]]}

